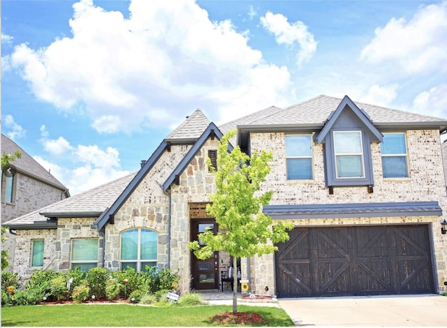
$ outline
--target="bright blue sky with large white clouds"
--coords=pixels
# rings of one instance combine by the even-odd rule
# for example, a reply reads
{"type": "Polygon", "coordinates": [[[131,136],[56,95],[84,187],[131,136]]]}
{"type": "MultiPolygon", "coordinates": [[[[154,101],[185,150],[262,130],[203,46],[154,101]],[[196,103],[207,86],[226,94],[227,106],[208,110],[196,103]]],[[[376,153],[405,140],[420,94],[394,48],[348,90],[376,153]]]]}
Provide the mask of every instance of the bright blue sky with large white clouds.
{"type": "Polygon", "coordinates": [[[447,1],[1,1],[1,131],[72,195],[320,94],[447,118],[447,1]]]}

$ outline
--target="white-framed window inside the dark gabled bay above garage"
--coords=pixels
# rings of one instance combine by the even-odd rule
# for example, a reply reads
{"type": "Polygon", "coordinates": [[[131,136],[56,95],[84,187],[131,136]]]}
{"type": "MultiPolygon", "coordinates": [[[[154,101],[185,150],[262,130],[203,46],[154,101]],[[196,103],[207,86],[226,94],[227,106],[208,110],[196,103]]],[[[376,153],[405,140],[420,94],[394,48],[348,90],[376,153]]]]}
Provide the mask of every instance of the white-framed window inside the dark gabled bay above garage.
{"type": "Polygon", "coordinates": [[[361,131],[334,131],[337,179],[365,177],[361,131]]]}

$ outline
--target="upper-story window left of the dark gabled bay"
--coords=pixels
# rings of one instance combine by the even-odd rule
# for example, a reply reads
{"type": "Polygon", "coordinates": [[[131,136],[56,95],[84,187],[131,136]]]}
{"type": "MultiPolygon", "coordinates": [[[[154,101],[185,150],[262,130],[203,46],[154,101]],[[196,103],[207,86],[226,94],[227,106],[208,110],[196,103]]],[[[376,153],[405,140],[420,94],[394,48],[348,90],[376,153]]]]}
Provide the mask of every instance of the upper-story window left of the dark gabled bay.
{"type": "Polygon", "coordinates": [[[312,177],[311,135],[286,135],[288,180],[310,180],[312,177]]]}

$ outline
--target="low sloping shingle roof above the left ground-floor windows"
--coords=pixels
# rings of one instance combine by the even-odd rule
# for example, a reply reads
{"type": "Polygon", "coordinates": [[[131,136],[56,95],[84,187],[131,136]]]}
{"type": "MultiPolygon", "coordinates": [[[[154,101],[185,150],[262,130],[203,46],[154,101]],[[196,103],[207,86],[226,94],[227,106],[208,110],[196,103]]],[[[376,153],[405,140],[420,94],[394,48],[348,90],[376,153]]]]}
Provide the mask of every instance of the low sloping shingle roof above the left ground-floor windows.
{"type": "Polygon", "coordinates": [[[10,228],[32,225],[34,222],[45,222],[47,217],[92,217],[99,216],[105,209],[112,206],[124,188],[133,179],[136,173],[128,174],[107,184],[68,197],[42,209],[32,211],[18,218],[14,218],[3,225],[10,228]]]}

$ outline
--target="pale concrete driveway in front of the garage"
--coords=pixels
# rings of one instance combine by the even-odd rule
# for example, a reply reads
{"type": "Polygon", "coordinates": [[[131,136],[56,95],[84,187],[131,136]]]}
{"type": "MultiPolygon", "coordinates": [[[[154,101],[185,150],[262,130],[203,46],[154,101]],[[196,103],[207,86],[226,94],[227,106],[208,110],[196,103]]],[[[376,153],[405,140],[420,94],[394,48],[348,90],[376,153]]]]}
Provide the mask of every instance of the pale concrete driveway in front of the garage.
{"type": "Polygon", "coordinates": [[[279,306],[301,327],[447,327],[440,295],[279,299],[279,306]]]}

